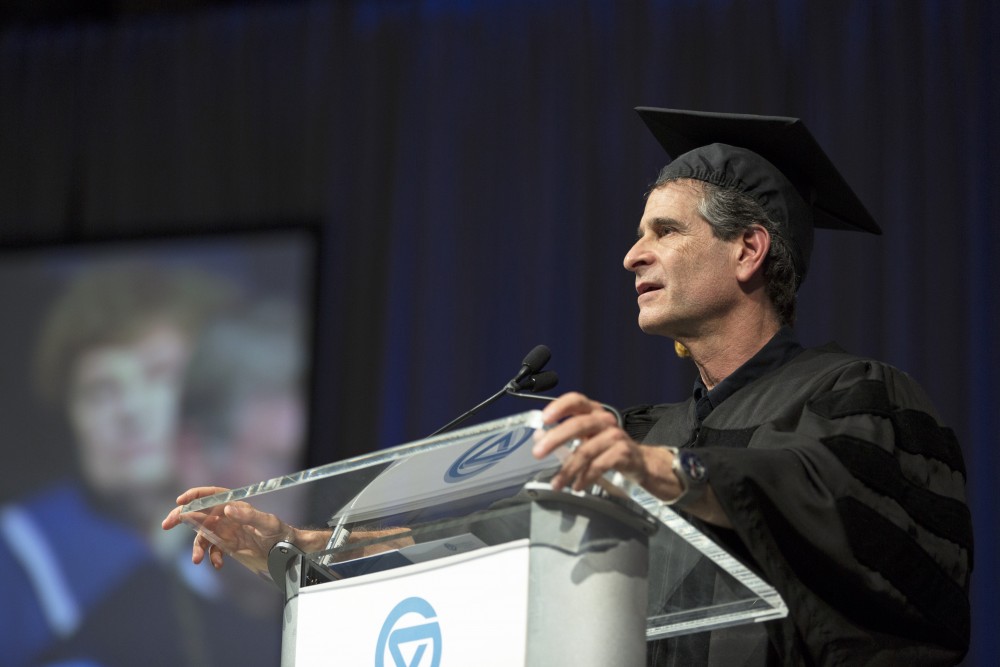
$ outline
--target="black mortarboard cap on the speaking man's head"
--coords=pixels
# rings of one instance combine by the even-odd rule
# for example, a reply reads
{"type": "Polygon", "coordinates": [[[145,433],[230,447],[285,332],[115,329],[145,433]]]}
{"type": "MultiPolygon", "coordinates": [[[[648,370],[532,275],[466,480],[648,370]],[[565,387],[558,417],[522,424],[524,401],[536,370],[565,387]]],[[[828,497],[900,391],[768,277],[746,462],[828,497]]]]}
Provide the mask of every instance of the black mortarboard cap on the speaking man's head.
{"type": "Polygon", "coordinates": [[[673,160],[665,175],[744,192],[792,245],[800,280],[813,227],[881,234],[864,204],[798,118],[638,107],[673,160]]]}

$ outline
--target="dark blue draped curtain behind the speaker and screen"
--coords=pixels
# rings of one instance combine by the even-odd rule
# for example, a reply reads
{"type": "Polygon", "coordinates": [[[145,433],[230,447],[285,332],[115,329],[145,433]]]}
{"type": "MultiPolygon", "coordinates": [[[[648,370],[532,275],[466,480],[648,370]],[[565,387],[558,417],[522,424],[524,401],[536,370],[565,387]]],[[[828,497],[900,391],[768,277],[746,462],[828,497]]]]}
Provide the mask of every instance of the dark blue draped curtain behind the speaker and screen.
{"type": "MultiPolygon", "coordinates": [[[[315,222],[318,464],[418,438],[533,345],[561,389],[676,400],[622,270],[664,155],[636,105],[802,117],[880,221],[819,232],[803,342],[926,387],[1000,653],[1000,17],[952,0],[384,0],[0,35],[0,242],[315,222]]],[[[486,416],[533,407],[506,399],[486,416]]]]}

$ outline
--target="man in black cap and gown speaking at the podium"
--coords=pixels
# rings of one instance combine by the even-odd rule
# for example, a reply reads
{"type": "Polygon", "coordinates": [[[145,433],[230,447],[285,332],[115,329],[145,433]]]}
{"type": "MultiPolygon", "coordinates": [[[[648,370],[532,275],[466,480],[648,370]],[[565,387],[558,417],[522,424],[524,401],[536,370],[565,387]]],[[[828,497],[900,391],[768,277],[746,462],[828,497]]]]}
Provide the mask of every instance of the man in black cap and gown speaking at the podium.
{"type": "Polygon", "coordinates": [[[832,345],[805,350],[790,328],[813,226],[878,226],[796,119],[639,112],[676,159],[625,268],[640,327],[677,341],[699,379],[684,403],[626,411],[624,427],[564,395],[535,453],[581,440],[554,486],[624,473],[789,608],[781,621],[651,643],[649,664],[959,662],[972,529],[953,433],[905,373],[832,345]]]}

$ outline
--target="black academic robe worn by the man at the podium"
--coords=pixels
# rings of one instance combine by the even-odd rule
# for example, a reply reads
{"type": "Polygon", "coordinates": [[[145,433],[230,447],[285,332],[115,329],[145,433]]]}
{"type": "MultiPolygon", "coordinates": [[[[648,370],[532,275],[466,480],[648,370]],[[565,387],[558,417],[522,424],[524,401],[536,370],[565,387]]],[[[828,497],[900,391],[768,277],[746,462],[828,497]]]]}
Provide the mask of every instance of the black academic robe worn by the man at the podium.
{"type": "Polygon", "coordinates": [[[954,434],[905,373],[833,347],[806,350],[700,425],[693,399],[625,416],[637,439],[699,450],[733,529],[693,522],[789,608],[784,620],[653,642],[650,664],[945,665],[964,656],[965,468],[954,434]]]}

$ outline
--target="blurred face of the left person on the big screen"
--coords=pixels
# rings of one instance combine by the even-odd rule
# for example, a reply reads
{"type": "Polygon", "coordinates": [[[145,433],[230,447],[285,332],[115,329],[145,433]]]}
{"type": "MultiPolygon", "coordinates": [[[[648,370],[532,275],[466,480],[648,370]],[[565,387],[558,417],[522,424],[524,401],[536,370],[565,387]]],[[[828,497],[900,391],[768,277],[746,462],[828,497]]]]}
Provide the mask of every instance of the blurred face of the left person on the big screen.
{"type": "Polygon", "coordinates": [[[95,347],[77,360],[70,421],[84,475],[95,490],[114,493],[170,482],[189,348],[185,334],[164,323],[128,342],[95,347]]]}

